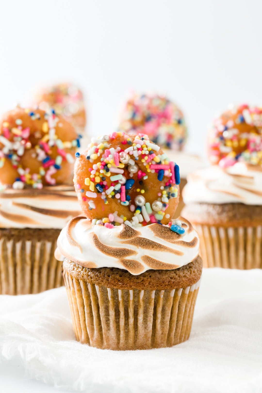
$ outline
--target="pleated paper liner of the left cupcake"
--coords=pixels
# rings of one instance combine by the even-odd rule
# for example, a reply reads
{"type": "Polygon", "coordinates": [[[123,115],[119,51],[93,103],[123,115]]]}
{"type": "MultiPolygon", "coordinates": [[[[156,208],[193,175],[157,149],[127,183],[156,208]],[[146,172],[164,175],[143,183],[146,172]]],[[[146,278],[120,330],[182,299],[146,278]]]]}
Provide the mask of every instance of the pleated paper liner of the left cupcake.
{"type": "Polygon", "coordinates": [[[0,239],[0,294],[35,294],[63,285],[62,262],[53,241],[0,239]]]}

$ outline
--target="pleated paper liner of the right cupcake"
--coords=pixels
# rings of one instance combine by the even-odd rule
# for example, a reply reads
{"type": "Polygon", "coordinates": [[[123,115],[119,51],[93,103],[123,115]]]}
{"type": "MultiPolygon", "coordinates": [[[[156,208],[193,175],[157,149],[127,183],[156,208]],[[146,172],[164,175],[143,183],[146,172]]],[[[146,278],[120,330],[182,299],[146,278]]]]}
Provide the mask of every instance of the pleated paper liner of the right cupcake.
{"type": "Polygon", "coordinates": [[[194,224],[204,267],[262,268],[262,226],[225,228],[194,224]]]}

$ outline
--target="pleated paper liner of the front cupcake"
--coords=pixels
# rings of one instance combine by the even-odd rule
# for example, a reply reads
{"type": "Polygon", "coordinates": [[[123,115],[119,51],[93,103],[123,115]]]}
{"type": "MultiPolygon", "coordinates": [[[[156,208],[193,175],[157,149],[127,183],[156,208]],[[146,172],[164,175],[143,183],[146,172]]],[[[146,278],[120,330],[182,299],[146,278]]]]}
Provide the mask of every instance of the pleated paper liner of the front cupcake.
{"type": "Polygon", "coordinates": [[[121,290],[87,283],[64,269],[63,277],[81,343],[101,349],[150,349],[189,338],[200,280],[172,290],[121,290]]]}

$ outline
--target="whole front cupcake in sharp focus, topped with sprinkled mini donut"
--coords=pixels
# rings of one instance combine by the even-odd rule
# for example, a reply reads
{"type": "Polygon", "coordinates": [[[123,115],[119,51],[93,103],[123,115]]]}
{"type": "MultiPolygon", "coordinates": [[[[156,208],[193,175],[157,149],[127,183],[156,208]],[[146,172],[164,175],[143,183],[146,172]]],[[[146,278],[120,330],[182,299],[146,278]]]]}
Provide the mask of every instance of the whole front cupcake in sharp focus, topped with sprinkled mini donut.
{"type": "Polygon", "coordinates": [[[61,231],[55,252],[77,340],[114,350],[187,340],[202,259],[191,224],[170,220],[177,167],[143,134],[115,132],[77,156],[74,183],[84,217],[61,231]]]}

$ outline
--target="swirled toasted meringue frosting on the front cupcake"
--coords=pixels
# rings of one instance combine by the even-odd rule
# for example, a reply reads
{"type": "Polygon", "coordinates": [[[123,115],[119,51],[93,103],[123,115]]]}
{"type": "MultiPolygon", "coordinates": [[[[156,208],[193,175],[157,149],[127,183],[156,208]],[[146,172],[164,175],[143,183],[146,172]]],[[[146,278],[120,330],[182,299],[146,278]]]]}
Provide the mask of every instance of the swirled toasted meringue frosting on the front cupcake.
{"type": "Polygon", "coordinates": [[[187,220],[180,220],[183,237],[161,224],[106,228],[75,217],[61,231],[55,257],[86,268],[121,268],[133,275],[150,269],[177,269],[194,261],[199,250],[198,234],[187,220]]]}

